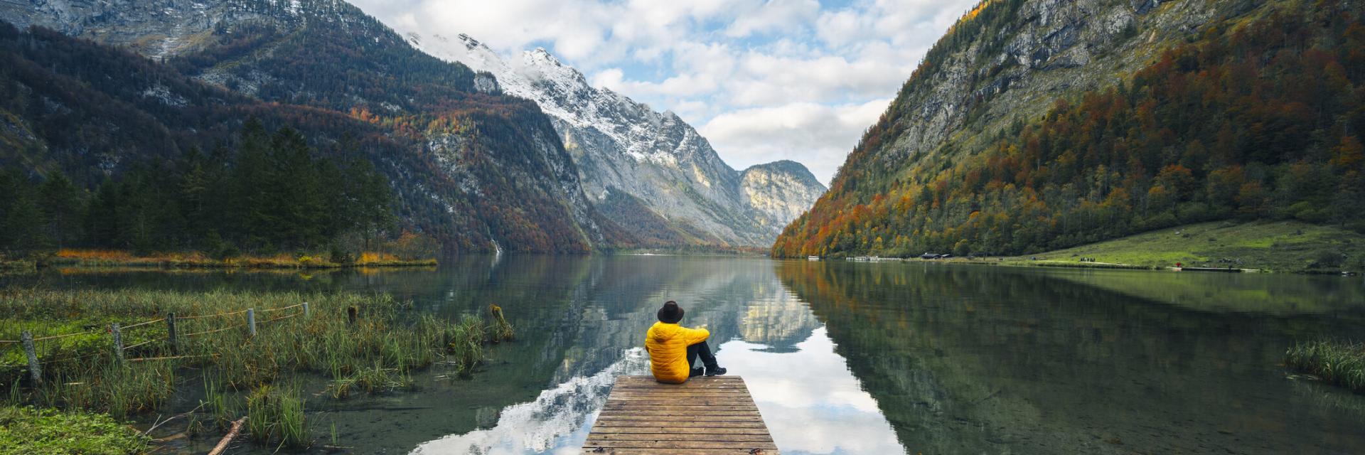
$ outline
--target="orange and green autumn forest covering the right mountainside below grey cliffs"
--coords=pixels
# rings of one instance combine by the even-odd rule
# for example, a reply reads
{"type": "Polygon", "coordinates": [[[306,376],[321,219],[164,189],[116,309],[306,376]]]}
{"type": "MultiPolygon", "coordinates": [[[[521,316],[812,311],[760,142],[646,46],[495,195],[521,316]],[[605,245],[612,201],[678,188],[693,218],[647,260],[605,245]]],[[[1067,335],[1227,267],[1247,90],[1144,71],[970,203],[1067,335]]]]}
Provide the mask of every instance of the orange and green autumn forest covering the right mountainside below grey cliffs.
{"type": "MultiPolygon", "coordinates": [[[[984,149],[842,169],[773,253],[1017,254],[1222,219],[1365,231],[1361,11],[1278,11],[1189,41],[984,149]]],[[[849,163],[895,124],[883,118],[849,163]]]]}

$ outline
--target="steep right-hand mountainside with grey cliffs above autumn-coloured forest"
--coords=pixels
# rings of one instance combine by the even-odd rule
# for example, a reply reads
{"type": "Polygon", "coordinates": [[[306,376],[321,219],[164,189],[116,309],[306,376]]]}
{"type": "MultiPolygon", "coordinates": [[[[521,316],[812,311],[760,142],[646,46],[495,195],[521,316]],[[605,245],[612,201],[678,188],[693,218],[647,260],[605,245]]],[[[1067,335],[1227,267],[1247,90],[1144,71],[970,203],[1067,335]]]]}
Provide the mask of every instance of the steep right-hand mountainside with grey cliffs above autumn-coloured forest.
{"type": "Polygon", "coordinates": [[[1007,254],[1183,223],[1365,230],[1357,1],[984,1],[777,256],[1007,254]]]}

